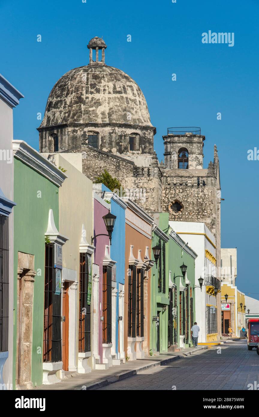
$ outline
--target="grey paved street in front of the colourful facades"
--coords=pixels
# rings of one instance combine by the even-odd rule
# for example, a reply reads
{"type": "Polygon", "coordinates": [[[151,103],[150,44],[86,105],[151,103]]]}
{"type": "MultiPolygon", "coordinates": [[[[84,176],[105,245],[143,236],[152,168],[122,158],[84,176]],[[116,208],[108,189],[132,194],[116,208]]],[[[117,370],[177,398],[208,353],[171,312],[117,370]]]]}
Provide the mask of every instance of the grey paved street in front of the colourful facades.
{"type": "Polygon", "coordinates": [[[100,390],[247,390],[259,382],[259,356],[244,340],[197,352],[100,390]],[[221,352],[221,353],[219,353],[221,352]]]}

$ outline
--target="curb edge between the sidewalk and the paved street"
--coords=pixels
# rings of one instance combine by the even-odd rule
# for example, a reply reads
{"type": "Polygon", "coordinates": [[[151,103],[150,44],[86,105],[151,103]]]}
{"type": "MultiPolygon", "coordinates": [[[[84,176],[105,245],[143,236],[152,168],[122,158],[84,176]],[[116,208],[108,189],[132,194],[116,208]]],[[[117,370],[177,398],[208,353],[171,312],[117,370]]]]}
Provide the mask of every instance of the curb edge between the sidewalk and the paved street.
{"type": "MultiPolygon", "coordinates": [[[[193,352],[199,352],[199,351],[205,350],[205,349],[208,349],[208,347],[204,346],[204,347],[202,347],[201,349],[198,349],[198,350],[194,349],[193,351],[188,352],[187,354],[184,354],[184,356],[191,355],[193,352]]],[[[139,374],[143,371],[146,371],[147,369],[153,369],[153,368],[156,368],[158,366],[164,366],[164,365],[167,365],[168,363],[173,362],[177,359],[182,359],[182,358],[184,358],[184,356],[175,355],[175,356],[172,356],[172,357],[167,358],[167,359],[161,359],[161,360],[159,360],[157,362],[154,362],[152,364],[148,364],[148,365],[144,365],[144,366],[142,365],[139,368],[131,369],[130,371],[126,371],[126,372],[122,372],[120,374],[113,375],[110,378],[103,379],[101,381],[97,381],[97,382],[94,382],[94,383],[91,383],[91,384],[88,384],[88,385],[84,385],[83,390],[88,391],[90,389],[98,389],[98,388],[102,388],[102,387],[107,387],[107,385],[110,385],[114,382],[121,381],[122,379],[132,377],[133,375],[137,375],[137,374],[139,374]]]]}

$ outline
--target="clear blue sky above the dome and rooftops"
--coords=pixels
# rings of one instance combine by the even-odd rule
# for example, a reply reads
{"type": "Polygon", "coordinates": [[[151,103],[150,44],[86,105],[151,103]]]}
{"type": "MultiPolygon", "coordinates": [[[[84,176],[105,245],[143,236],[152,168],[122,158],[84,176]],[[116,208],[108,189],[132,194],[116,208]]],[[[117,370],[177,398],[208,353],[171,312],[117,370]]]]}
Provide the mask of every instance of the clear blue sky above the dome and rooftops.
{"type": "Polygon", "coordinates": [[[257,0],[0,0],[0,72],[25,95],[14,138],[38,149],[37,113],[43,117],[52,86],[87,65],[88,41],[103,36],[107,65],[129,74],[146,97],[159,160],[167,127],[201,127],[205,168],[217,144],[222,247],[237,246],[237,286],[257,299],[259,161],[248,161],[247,151],[259,148],[258,12],[257,0]],[[234,46],[203,44],[209,30],[234,32],[234,46]]]}

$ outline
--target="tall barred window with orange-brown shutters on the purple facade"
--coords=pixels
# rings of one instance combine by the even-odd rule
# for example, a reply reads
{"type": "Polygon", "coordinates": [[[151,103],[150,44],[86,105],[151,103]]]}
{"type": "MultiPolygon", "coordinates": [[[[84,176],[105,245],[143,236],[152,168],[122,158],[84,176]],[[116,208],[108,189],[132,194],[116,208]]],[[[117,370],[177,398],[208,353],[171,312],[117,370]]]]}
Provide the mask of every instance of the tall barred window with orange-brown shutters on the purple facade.
{"type": "Polygon", "coordinates": [[[112,268],[102,269],[102,343],[112,343],[112,268]]]}

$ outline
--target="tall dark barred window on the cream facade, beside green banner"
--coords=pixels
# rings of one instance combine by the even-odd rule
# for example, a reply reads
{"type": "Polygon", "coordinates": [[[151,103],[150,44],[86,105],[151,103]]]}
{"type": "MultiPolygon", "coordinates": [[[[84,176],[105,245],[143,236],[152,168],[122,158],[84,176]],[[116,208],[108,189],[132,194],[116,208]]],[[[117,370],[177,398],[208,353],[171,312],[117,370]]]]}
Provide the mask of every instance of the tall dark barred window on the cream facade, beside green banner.
{"type": "Polygon", "coordinates": [[[88,257],[87,254],[80,253],[79,352],[91,351],[91,306],[87,304],[88,277],[88,257]]]}

